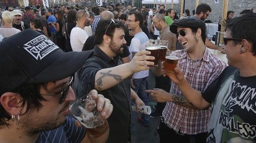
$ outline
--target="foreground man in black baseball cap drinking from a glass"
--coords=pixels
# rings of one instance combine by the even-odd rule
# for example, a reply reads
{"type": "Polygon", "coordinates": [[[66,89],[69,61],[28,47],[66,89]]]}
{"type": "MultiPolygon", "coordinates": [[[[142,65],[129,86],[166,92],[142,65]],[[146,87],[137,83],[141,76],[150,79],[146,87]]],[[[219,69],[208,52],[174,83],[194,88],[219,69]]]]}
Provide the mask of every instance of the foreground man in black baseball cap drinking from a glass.
{"type": "MultiPolygon", "coordinates": [[[[67,117],[75,100],[71,75],[90,55],[91,51],[65,53],[31,29],[4,39],[0,43],[1,142],[104,143],[109,130],[93,137],[93,131],[86,132],[67,117]]],[[[102,117],[108,118],[113,109],[110,100],[96,90],[90,93],[102,117]]]]}

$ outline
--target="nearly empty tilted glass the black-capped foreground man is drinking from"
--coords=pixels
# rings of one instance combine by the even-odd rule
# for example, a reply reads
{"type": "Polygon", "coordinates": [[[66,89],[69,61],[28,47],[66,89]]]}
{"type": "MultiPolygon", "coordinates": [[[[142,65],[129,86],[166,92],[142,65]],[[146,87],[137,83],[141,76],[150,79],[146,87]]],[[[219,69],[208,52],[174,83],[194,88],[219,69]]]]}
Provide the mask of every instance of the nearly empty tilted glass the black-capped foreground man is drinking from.
{"type": "Polygon", "coordinates": [[[69,110],[73,116],[75,116],[77,120],[90,131],[91,135],[98,136],[106,131],[107,121],[102,118],[100,112],[97,110],[95,100],[93,100],[89,94],[76,100],[69,107],[69,110]]]}

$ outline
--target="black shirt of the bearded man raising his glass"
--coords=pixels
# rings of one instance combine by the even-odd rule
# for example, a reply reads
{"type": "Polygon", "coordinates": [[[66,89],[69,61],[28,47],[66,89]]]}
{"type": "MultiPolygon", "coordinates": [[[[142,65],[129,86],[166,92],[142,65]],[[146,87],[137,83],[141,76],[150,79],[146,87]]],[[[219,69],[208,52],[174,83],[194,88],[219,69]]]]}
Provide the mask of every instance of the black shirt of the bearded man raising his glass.
{"type": "MultiPolygon", "coordinates": [[[[82,51],[83,52],[83,51],[82,51]]],[[[108,57],[98,46],[75,76],[75,92],[81,97],[94,89],[95,75],[99,70],[121,64],[120,57],[108,57]]],[[[127,143],[130,132],[130,79],[126,78],[110,89],[98,91],[111,101],[114,110],[107,119],[110,135],[106,143],[127,143]]]]}

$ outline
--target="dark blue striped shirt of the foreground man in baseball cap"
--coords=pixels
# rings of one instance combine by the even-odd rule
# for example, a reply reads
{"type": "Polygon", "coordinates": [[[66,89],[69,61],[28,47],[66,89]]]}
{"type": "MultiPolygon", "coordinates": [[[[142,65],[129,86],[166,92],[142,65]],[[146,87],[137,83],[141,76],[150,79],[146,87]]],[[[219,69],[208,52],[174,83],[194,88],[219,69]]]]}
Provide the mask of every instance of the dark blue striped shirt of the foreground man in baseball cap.
{"type": "Polygon", "coordinates": [[[65,124],[50,131],[42,131],[35,143],[80,143],[85,137],[85,128],[78,128],[75,119],[66,117],[65,124]]]}

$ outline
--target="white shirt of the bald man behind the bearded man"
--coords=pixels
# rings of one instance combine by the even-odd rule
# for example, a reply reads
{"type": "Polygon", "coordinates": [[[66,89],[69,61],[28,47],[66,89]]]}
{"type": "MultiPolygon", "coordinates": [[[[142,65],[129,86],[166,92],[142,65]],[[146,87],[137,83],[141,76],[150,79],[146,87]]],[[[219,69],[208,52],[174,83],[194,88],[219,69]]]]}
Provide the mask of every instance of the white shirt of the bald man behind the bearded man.
{"type": "Polygon", "coordinates": [[[70,33],[70,45],[72,50],[81,52],[88,37],[89,36],[85,30],[80,27],[74,27],[70,33]]]}

